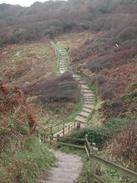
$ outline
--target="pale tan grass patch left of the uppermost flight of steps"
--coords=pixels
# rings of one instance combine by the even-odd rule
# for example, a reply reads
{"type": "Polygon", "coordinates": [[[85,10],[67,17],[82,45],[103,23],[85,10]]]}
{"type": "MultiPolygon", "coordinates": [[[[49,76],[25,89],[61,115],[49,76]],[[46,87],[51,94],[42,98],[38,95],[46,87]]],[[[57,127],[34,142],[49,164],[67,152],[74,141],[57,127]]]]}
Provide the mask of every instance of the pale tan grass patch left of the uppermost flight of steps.
{"type": "Polygon", "coordinates": [[[55,75],[55,60],[48,41],[7,46],[1,50],[0,75],[12,84],[27,86],[55,75]]]}

